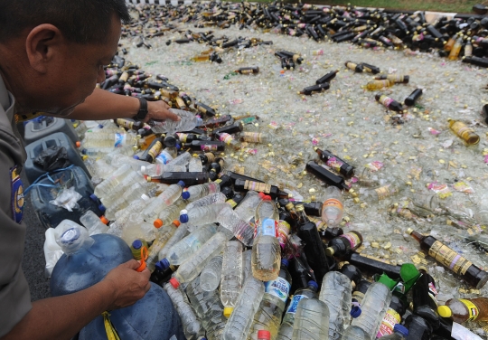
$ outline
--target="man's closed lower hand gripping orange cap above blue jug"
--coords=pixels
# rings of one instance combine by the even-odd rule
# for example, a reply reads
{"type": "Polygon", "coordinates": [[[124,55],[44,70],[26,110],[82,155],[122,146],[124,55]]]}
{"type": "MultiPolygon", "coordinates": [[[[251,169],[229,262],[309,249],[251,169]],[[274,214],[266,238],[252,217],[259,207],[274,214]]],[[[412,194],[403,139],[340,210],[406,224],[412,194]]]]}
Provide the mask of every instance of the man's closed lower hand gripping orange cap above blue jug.
{"type": "Polygon", "coordinates": [[[110,270],[103,279],[102,283],[107,284],[114,294],[114,300],[108,310],[134,305],[151,288],[151,273],[148,269],[137,272],[139,266],[138,261],[129,260],[110,270]]]}

